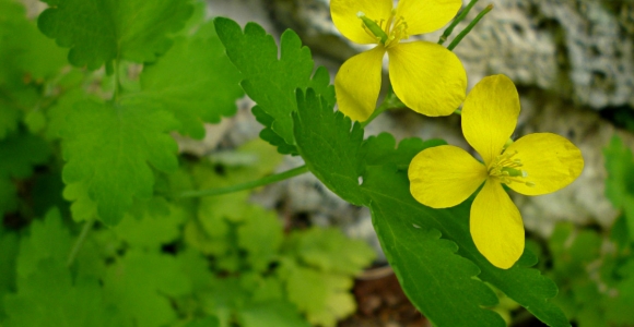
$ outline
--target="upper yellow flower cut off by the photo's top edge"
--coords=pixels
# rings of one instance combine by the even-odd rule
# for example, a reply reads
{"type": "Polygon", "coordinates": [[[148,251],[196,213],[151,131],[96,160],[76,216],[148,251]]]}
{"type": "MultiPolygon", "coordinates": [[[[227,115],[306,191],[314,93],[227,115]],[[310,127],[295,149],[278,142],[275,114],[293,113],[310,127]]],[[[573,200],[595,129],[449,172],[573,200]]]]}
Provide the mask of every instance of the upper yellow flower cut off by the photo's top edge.
{"type": "Polygon", "coordinates": [[[460,0],[331,0],[332,22],[357,44],[377,44],[341,65],[334,78],[339,110],[365,121],[376,107],[381,62],[389,57],[389,78],[409,108],[426,116],[448,116],[465,99],[467,73],[458,57],[427,43],[401,43],[410,35],[436,31],[458,12],[460,0]],[[375,32],[373,32],[375,31],[375,32]]]}

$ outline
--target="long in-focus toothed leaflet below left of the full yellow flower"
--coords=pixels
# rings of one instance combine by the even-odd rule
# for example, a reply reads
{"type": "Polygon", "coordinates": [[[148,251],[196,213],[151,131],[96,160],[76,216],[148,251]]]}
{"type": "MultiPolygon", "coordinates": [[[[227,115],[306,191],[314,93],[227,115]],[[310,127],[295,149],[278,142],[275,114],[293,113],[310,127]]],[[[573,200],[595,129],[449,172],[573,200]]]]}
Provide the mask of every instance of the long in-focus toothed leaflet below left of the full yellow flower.
{"type": "Polygon", "coordinates": [[[463,219],[467,210],[424,207],[408,185],[407,175],[389,167],[374,168],[364,179],[375,230],[408,298],[436,326],[504,326],[496,313],[482,308],[495,305],[497,296],[474,278],[480,268],[456,254],[454,241],[441,239],[470,241],[469,234],[434,223],[463,219]]]}

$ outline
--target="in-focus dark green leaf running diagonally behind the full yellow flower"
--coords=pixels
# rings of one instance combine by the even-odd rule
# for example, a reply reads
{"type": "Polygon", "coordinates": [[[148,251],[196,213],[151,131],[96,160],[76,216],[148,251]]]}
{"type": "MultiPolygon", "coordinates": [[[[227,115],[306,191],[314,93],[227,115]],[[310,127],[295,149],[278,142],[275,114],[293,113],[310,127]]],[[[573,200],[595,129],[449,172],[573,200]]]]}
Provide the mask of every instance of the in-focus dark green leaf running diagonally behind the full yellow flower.
{"type": "MultiPolygon", "coordinates": [[[[529,252],[512,269],[495,268],[482,257],[471,240],[466,219],[469,216],[468,204],[436,210],[422,206],[412,198],[407,174],[398,168],[409,162],[410,156],[425,146],[437,144],[436,142],[425,144],[408,140],[402,148],[399,146],[395,150],[394,147],[386,146],[395,144],[394,137],[388,140],[388,136],[379,136],[374,141],[371,138],[365,150],[359,152],[359,156],[367,160],[367,164],[361,162],[366,165],[365,168],[347,168],[339,170],[345,171],[345,175],[330,178],[333,173],[331,167],[338,167],[338,161],[334,160],[349,156],[348,152],[351,149],[318,146],[315,138],[327,140],[327,135],[339,135],[338,140],[345,140],[353,136],[342,137],[344,133],[360,133],[361,136],[354,136],[360,140],[363,131],[355,131],[350,120],[333,112],[332,106],[324,106],[310,90],[306,93],[305,102],[298,101],[298,105],[295,140],[306,165],[310,169],[318,169],[313,170],[317,177],[326,177],[321,181],[330,190],[343,190],[340,194],[343,198],[350,199],[350,194],[360,193],[352,196],[369,206],[375,230],[406,293],[434,324],[461,326],[476,320],[488,326],[504,325],[497,314],[482,308],[494,305],[497,299],[489,287],[473,278],[478,277],[498,288],[549,325],[568,325],[563,313],[547,301],[556,294],[555,284],[539,271],[524,268],[535,264],[529,252]],[[318,123],[301,122],[310,119],[318,123]],[[374,153],[377,150],[387,153],[374,153]],[[356,186],[352,181],[359,179],[360,172],[364,172],[363,184],[356,186]],[[437,296],[432,301],[428,294],[437,296]],[[456,312],[461,314],[456,315],[456,312]]],[[[362,146],[359,141],[355,144],[362,146]]],[[[363,160],[362,158],[356,160],[363,160]]],[[[359,162],[354,159],[349,161],[359,162]]],[[[349,167],[356,167],[355,165],[359,164],[349,167]]]]}

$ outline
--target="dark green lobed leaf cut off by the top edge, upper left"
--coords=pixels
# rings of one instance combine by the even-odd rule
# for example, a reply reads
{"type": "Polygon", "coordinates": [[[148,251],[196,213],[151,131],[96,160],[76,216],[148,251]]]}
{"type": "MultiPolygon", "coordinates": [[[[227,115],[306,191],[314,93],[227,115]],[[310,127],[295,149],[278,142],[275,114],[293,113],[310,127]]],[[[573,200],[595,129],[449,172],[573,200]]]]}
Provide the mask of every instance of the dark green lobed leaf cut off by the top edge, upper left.
{"type": "Polygon", "coordinates": [[[120,59],[155,61],[172,46],[169,34],[183,28],[193,11],[183,0],[43,1],[50,8],[39,15],[39,29],[70,48],[70,63],[89,70],[104,63],[111,68],[120,59]]]}

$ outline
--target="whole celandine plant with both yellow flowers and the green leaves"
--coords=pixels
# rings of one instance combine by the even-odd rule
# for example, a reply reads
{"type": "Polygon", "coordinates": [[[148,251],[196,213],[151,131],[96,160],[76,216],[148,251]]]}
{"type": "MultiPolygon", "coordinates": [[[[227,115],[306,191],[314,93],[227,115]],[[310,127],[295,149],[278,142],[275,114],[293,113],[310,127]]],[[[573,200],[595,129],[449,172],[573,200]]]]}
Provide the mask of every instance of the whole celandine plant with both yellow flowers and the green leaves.
{"type": "MultiPolygon", "coordinates": [[[[466,97],[467,76],[451,49],[492,7],[445,48],[476,0],[460,13],[459,0],[401,0],[396,8],[391,0],[332,0],[341,33],[376,46],[349,59],[331,85],[293,31],[277,45],[255,23],[243,28],[226,17],[202,22],[204,7],[193,1],[45,2],[50,7],[37,27],[50,39],[24,19],[4,19],[23,12],[13,0],[0,0],[0,33],[11,32],[0,34],[0,41],[30,31],[21,39],[28,49],[13,48],[19,43],[0,47],[1,58],[16,62],[0,72],[0,95],[10,95],[0,102],[9,108],[2,112],[0,154],[10,158],[0,167],[0,183],[11,186],[0,193],[0,209],[16,210],[4,205],[17,202],[13,181],[47,160],[58,181],[55,195],[63,193],[72,205],[33,223],[25,241],[0,226],[0,269],[11,272],[2,270],[10,277],[0,279],[0,294],[11,293],[0,305],[0,318],[9,317],[3,326],[85,326],[95,319],[104,326],[249,327],[262,319],[272,326],[304,326],[306,319],[333,326],[354,310],[350,276],[371,254],[360,245],[344,255],[347,242],[332,249],[328,240],[339,237],[318,232],[310,241],[290,238],[289,249],[280,249],[281,230],[263,232],[275,218],[255,219],[261,210],[242,205],[246,190],[308,171],[341,198],[369,208],[403,290],[434,326],[505,326],[493,311],[496,291],[549,326],[570,326],[551,302],[556,286],[531,268],[538,258],[525,246],[520,214],[505,187],[527,195],[554,192],[575,180],[584,161],[561,136],[508,138],[519,101],[507,77],[486,77],[466,97]],[[437,44],[408,39],[441,28],[457,13],[437,44]],[[62,70],[61,48],[81,70],[62,70]],[[395,93],[377,107],[386,53],[395,93]],[[130,76],[128,66],[142,71],[130,76]],[[91,73],[101,68],[105,76],[91,73]],[[86,92],[95,84],[106,86],[86,92]],[[301,156],[304,166],[267,174],[262,164],[236,169],[230,179],[177,156],[169,133],[202,138],[203,123],[235,114],[244,94],[257,104],[253,113],[270,149],[301,156]],[[482,162],[442,140],[397,144],[389,133],[364,137],[364,126],[386,109],[447,116],[460,112],[462,101],[462,132],[482,162]],[[83,223],[74,241],[62,226],[64,213],[83,223]],[[271,246],[258,246],[260,231],[271,246]],[[232,240],[234,247],[226,244],[232,240]],[[4,251],[5,244],[20,250],[4,251]],[[305,249],[295,255],[293,246],[305,249]],[[240,251],[248,252],[246,266],[240,251]],[[333,251],[341,255],[329,255],[333,251]],[[210,262],[231,274],[212,280],[210,262]],[[49,280],[63,287],[49,288],[49,280]],[[304,284],[314,286],[309,293],[304,284]],[[210,295],[208,289],[219,291],[210,295]],[[46,310],[31,315],[23,303],[46,310]]],[[[38,216],[50,206],[43,203],[45,209],[34,209],[38,216]]],[[[61,198],[58,204],[68,206],[61,198]]]]}

